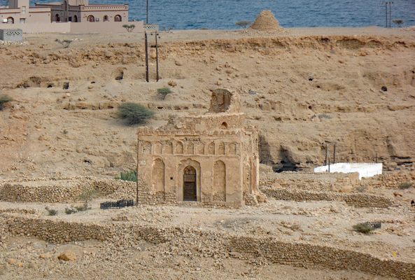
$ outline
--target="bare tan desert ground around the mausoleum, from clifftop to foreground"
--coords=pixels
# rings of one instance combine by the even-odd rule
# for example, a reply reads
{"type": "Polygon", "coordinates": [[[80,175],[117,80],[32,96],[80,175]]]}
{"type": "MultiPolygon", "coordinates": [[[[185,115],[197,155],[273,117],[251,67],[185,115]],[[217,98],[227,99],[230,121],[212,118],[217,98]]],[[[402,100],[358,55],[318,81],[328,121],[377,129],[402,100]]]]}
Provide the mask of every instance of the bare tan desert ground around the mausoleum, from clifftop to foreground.
{"type": "Polygon", "coordinates": [[[241,94],[248,123],[260,130],[261,175],[281,172],[261,188],[377,195],[391,206],[267,197],[241,209],[99,209],[99,202],[124,198],[117,193],[67,215],[72,202],[3,200],[0,279],[410,279],[414,271],[403,268],[377,274],[279,262],[259,245],[255,252],[233,250],[230,240],[294,242],[415,266],[415,189],[400,188],[415,181],[414,27],[160,31],[158,82],[153,40],[150,83],[141,35],[27,34],[20,45],[0,45],[0,95],[13,98],[0,111],[0,191],[39,178],[113,180],[136,166],[137,127],[117,117],[122,102],[148,106],[155,117],[146,125],[159,127],[205,112],[211,90],[225,87],[241,94]],[[73,42],[62,48],[56,38],[73,42]],[[165,99],[161,87],[171,87],[165,99]],[[337,188],[335,177],[311,174],[325,160],[325,144],[336,144],[338,162],[377,158],[384,174],[337,188]],[[45,207],[58,214],[47,216],[45,207]],[[370,235],[352,230],[365,221],[381,221],[382,228],[370,235]],[[12,234],[19,223],[24,227],[12,234]],[[37,231],[55,225],[69,230],[37,231]],[[111,234],[65,241],[71,227],[111,234]],[[140,239],[129,232],[134,228],[163,238],[140,239]],[[59,260],[65,251],[76,260],[59,260]]]}

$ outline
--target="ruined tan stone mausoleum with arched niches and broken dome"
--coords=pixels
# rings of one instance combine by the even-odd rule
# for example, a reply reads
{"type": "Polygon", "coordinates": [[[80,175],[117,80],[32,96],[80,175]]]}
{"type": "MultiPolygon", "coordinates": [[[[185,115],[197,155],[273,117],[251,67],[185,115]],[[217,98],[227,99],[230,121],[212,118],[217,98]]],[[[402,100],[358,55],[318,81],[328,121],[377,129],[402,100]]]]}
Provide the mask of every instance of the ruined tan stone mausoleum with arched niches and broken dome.
{"type": "Polygon", "coordinates": [[[258,191],[258,130],[247,127],[237,92],[212,92],[201,116],[138,131],[141,202],[239,207],[258,191]]]}

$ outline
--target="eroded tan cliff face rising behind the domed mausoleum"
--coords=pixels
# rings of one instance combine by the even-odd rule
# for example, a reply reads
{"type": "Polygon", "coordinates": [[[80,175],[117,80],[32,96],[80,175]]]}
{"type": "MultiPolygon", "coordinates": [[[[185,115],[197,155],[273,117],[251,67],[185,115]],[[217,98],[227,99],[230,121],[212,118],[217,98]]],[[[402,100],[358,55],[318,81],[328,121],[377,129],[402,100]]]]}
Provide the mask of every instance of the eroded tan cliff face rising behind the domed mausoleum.
{"type": "MultiPolygon", "coordinates": [[[[136,127],[122,102],[171,116],[203,113],[211,90],[241,92],[260,129],[261,162],[274,170],[337,161],[415,162],[415,43],[407,36],[290,36],[162,42],[159,83],[145,83],[143,45],[52,38],[0,48],[0,174],[105,174],[135,165],[136,127]],[[64,89],[64,83],[68,85],[64,89]],[[171,85],[164,99],[157,88],[171,85]]],[[[173,36],[166,34],[166,36],[173,36]]],[[[412,36],[412,37],[411,37],[412,36]]],[[[122,41],[122,40],[120,40],[122,41]]],[[[150,78],[155,59],[150,51],[150,78]]]]}

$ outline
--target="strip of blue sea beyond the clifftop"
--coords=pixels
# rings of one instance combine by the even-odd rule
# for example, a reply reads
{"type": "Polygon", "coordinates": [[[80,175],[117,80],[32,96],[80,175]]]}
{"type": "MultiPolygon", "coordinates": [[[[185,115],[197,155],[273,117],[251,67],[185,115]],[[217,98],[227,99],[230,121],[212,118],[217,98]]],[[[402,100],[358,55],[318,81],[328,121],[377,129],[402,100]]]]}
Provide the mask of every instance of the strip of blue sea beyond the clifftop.
{"type": "MultiPolygon", "coordinates": [[[[0,6],[6,3],[0,0],[0,6]]],[[[90,0],[90,3],[129,3],[129,20],[146,20],[146,0],[90,0]]],[[[261,10],[272,10],[283,27],[384,27],[386,17],[381,0],[148,0],[148,3],[148,21],[161,29],[236,29],[235,22],[253,21],[261,10]]],[[[403,26],[415,25],[415,0],[394,0],[391,18],[404,20],[403,26]]]]}

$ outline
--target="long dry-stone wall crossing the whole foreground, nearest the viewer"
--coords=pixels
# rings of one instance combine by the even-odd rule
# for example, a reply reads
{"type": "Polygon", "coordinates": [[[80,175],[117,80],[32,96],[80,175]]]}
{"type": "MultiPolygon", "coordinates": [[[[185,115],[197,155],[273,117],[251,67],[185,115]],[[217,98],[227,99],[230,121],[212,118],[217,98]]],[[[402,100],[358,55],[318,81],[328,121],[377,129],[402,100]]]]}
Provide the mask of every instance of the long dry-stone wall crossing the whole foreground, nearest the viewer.
{"type": "Polygon", "coordinates": [[[11,235],[37,237],[50,242],[97,239],[117,246],[132,246],[144,239],[152,244],[169,242],[163,253],[220,255],[243,259],[265,259],[269,262],[300,267],[351,269],[379,276],[415,279],[415,263],[381,260],[367,253],[307,243],[278,241],[272,237],[247,237],[187,228],[156,228],[119,223],[99,225],[26,218],[7,214],[0,216],[1,228],[11,235]],[[195,245],[197,244],[197,245],[195,245]]]}

